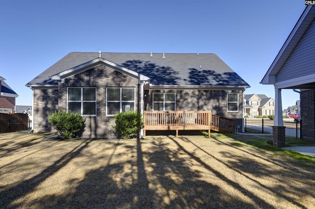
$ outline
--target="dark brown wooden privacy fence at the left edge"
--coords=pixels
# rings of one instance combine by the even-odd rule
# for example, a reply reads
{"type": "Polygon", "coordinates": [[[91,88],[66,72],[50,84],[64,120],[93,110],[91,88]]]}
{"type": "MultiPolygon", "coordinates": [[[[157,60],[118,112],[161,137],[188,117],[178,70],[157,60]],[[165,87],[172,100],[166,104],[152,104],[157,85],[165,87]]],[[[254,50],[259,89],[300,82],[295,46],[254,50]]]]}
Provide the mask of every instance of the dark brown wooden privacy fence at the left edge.
{"type": "Polygon", "coordinates": [[[0,113],[0,133],[26,131],[29,129],[29,117],[27,114],[0,113]]]}

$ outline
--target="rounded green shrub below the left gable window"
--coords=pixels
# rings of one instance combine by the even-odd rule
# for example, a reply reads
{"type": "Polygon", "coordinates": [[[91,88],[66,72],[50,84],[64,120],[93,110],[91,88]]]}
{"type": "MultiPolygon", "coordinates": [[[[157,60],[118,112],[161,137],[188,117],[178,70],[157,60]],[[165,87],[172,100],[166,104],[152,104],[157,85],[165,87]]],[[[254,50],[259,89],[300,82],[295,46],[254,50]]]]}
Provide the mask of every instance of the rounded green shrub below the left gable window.
{"type": "Polygon", "coordinates": [[[75,138],[82,133],[85,120],[80,113],[59,110],[48,117],[48,122],[65,138],[75,138]]]}

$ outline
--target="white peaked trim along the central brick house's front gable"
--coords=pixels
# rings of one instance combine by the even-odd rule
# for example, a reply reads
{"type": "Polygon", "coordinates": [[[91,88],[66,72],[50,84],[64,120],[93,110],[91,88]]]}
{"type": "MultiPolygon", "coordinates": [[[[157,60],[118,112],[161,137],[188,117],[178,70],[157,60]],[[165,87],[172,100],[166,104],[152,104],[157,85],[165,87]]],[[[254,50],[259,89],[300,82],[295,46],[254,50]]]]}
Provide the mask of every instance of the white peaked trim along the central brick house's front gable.
{"type": "Polygon", "coordinates": [[[79,73],[82,73],[84,71],[90,70],[91,68],[94,68],[94,67],[96,67],[98,65],[105,65],[107,67],[110,67],[110,68],[116,70],[117,72],[120,72],[122,74],[130,76],[132,78],[136,78],[136,79],[138,79],[138,83],[141,83],[141,82],[144,82],[144,81],[149,81],[149,79],[150,79],[150,78],[148,78],[148,77],[146,77],[144,75],[141,75],[139,73],[131,71],[131,70],[125,68],[125,67],[117,65],[117,64],[115,64],[115,63],[113,63],[111,61],[108,61],[106,59],[103,59],[101,57],[93,59],[93,60],[91,60],[89,62],[86,62],[84,64],[78,65],[78,66],[76,66],[74,68],[71,68],[71,69],[68,69],[66,71],[63,71],[63,72],[61,72],[59,74],[56,74],[56,75],[52,76],[51,79],[60,81],[60,80],[63,80],[65,78],[69,78],[71,76],[74,76],[74,75],[77,75],[79,73]]]}

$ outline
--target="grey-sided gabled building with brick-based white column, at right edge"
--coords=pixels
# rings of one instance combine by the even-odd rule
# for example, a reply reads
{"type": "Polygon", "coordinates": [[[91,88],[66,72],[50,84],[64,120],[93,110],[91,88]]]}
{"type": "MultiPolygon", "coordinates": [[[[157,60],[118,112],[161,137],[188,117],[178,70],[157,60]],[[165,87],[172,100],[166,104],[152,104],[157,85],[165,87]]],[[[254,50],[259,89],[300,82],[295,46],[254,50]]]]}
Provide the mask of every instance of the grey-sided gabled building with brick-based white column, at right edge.
{"type": "Polygon", "coordinates": [[[271,64],[262,84],[275,86],[273,143],[284,147],[281,90],[300,94],[302,138],[315,141],[315,7],[306,6],[300,19],[271,64]],[[299,89],[295,90],[295,89],[299,89]]]}

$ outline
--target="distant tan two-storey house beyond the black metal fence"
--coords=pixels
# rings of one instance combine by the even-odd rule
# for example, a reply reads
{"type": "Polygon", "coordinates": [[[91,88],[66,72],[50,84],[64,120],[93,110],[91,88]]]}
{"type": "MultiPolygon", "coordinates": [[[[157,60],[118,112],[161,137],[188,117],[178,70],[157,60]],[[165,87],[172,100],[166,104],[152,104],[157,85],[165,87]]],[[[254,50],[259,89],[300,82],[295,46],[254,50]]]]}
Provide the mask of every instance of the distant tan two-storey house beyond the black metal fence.
{"type": "Polygon", "coordinates": [[[246,115],[251,117],[273,115],[275,111],[275,100],[264,94],[245,94],[244,104],[246,115]]]}

